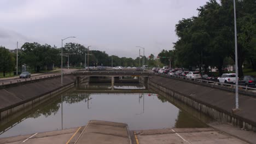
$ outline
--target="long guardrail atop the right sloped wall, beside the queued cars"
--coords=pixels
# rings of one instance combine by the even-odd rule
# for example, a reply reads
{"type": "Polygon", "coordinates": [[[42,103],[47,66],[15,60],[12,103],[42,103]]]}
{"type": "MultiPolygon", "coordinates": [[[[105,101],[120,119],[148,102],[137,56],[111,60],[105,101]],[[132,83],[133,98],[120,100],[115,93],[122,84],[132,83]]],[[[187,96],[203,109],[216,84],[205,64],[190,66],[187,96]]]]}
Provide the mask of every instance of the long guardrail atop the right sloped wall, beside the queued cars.
{"type": "MultiPolygon", "coordinates": [[[[212,85],[218,85],[218,86],[222,86],[222,87],[230,87],[230,88],[236,88],[236,85],[232,85],[229,83],[221,83],[221,82],[216,82],[216,81],[207,81],[207,80],[202,80],[202,79],[188,79],[185,76],[178,76],[178,75],[167,75],[167,74],[159,74],[159,73],[154,73],[155,75],[161,75],[161,76],[165,76],[165,77],[172,77],[172,78],[177,78],[177,79],[185,79],[185,80],[193,80],[193,81],[197,81],[197,82],[204,82],[204,83],[212,83],[212,85]]],[[[252,88],[252,87],[245,87],[245,86],[238,86],[238,88],[242,88],[245,89],[245,91],[255,91],[256,93],[256,88],[252,88]]]]}

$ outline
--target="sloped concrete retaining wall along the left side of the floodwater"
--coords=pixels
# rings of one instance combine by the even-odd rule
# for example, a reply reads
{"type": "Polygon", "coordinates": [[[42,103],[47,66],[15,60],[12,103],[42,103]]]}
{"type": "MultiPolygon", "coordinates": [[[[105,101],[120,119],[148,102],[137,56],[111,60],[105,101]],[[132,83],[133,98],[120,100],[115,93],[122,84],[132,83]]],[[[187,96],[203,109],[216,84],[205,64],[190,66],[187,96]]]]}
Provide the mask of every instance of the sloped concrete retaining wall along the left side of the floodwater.
{"type": "Polygon", "coordinates": [[[73,87],[74,82],[74,76],[67,75],[63,77],[63,86],[61,86],[61,77],[56,77],[0,89],[0,120],[3,121],[4,118],[10,116],[18,117],[33,107],[44,103],[53,95],[73,87]]]}

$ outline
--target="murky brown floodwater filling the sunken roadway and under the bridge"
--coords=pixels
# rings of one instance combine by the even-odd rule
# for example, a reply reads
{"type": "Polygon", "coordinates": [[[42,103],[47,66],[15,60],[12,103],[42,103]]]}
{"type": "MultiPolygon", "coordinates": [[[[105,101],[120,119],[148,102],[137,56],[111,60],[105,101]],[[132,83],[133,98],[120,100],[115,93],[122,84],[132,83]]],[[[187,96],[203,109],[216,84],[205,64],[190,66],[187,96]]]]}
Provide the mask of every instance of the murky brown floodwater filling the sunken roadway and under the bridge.
{"type": "MultiPolygon", "coordinates": [[[[110,86],[94,84],[90,87],[95,89],[110,86]]],[[[69,89],[8,127],[2,125],[0,137],[80,127],[92,119],[127,123],[130,130],[207,127],[161,95],[149,91],[139,93],[139,89],[145,90],[144,86],[134,83],[130,86],[117,84],[115,89],[118,88],[127,91],[97,93],[95,90],[88,93],[75,88],[69,89]],[[131,93],[130,89],[137,89],[137,93],[131,93]]]]}

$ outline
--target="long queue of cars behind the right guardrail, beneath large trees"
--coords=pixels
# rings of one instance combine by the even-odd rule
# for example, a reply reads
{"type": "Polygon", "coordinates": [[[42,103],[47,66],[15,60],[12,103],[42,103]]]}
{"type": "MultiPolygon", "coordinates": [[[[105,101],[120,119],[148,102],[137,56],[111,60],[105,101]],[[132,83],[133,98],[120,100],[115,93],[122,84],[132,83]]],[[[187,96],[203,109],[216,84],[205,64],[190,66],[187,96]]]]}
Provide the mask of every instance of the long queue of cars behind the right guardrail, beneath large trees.
{"type": "MultiPolygon", "coordinates": [[[[202,79],[220,83],[228,83],[234,85],[236,82],[236,74],[234,73],[226,73],[222,74],[222,76],[214,77],[209,76],[207,74],[201,75],[199,71],[188,71],[182,69],[168,69],[168,68],[153,68],[152,69],[155,73],[159,74],[167,74],[167,75],[177,75],[177,76],[184,76],[187,79],[202,79]]],[[[241,78],[238,78],[238,85],[245,86],[245,87],[256,87],[256,76],[246,75],[241,78]]]]}

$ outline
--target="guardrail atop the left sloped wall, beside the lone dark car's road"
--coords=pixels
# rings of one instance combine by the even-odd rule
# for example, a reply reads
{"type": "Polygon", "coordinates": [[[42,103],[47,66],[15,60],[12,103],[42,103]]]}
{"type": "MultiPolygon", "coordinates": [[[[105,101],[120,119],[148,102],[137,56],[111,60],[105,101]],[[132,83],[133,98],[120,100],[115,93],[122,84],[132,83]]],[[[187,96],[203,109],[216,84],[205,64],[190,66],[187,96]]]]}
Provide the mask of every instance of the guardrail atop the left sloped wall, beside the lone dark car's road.
{"type": "MultiPolygon", "coordinates": [[[[63,75],[66,74],[71,74],[74,71],[68,72],[68,73],[63,73],[63,75]]],[[[36,76],[36,77],[31,77],[31,78],[26,78],[26,79],[19,79],[19,80],[11,80],[11,81],[3,81],[0,82],[0,86],[4,86],[4,85],[10,85],[13,83],[19,83],[19,82],[26,82],[26,81],[33,81],[33,80],[40,80],[40,79],[46,79],[49,77],[55,77],[55,76],[60,76],[61,74],[53,74],[53,75],[46,75],[46,76],[36,76]]]]}

